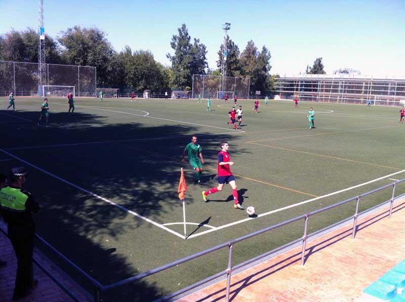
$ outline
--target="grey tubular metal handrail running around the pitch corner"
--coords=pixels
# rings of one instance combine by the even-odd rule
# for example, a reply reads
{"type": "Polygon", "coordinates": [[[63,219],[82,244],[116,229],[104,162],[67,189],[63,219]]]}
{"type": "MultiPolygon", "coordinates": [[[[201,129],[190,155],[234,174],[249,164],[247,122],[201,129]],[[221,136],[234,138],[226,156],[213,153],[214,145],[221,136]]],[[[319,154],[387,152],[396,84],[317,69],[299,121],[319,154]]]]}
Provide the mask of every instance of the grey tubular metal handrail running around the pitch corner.
{"type": "MultiPolygon", "coordinates": [[[[299,243],[299,242],[302,242],[301,265],[304,265],[304,264],[305,264],[305,261],[304,261],[304,260],[305,260],[305,250],[306,250],[305,247],[306,247],[306,242],[308,241],[308,239],[313,238],[314,236],[316,236],[317,234],[319,234],[319,233],[321,233],[321,232],[324,232],[324,231],[326,231],[326,230],[329,230],[329,229],[331,229],[331,228],[333,228],[333,227],[335,227],[335,226],[337,226],[337,225],[342,224],[343,222],[347,222],[347,221],[350,221],[350,220],[353,220],[352,238],[354,239],[355,234],[356,234],[357,218],[359,217],[359,215],[362,214],[362,213],[369,212],[369,211],[371,211],[371,210],[373,210],[373,209],[375,209],[375,208],[377,208],[377,207],[380,207],[380,206],[382,206],[383,204],[386,204],[387,202],[390,202],[390,209],[389,209],[389,219],[390,219],[390,218],[391,218],[391,215],[392,215],[393,202],[394,202],[394,199],[395,199],[395,196],[394,196],[394,195],[395,195],[395,187],[396,187],[397,184],[402,183],[402,182],[405,182],[405,179],[402,179],[402,180],[396,181],[396,182],[394,182],[394,183],[391,183],[391,184],[382,186],[382,187],[380,187],[380,188],[377,188],[377,189],[374,189],[374,190],[372,190],[372,191],[369,191],[369,192],[360,194],[360,195],[358,195],[358,196],[351,197],[351,198],[349,198],[349,199],[346,199],[346,200],[340,201],[340,202],[338,202],[338,203],[335,203],[335,204],[332,204],[332,205],[323,207],[323,208],[321,208],[321,209],[317,209],[317,210],[311,211],[311,212],[309,212],[309,213],[302,214],[302,215],[300,215],[300,216],[298,216],[298,217],[295,217],[295,218],[292,218],[292,219],[290,219],[290,220],[287,220],[287,221],[284,221],[284,222],[280,222],[280,223],[275,224],[275,225],[273,225],[273,226],[270,226],[270,227],[261,229],[261,230],[259,230],[259,231],[256,231],[256,232],[253,232],[253,233],[250,233],[250,234],[247,234],[247,235],[245,235],[245,236],[241,236],[241,237],[235,238],[235,239],[230,240],[230,241],[228,241],[228,242],[224,242],[224,243],[219,244],[219,245],[217,245],[217,246],[214,246],[214,247],[211,247],[211,248],[209,248],[209,249],[206,249],[206,250],[203,250],[203,251],[194,253],[194,254],[192,254],[192,255],[189,255],[189,256],[187,256],[187,257],[181,258],[181,259],[176,260],[176,261],[174,261],[174,262],[168,263],[168,264],[166,264],[166,265],[164,265],[164,266],[160,266],[160,267],[158,267],[158,268],[155,268],[155,269],[146,271],[146,272],[144,272],[144,273],[138,274],[138,275],[136,275],[136,276],[132,276],[132,277],[130,277],[130,278],[127,278],[127,279],[124,279],[124,280],[121,280],[121,281],[118,281],[118,282],[115,282],[115,283],[112,283],[112,284],[109,284],[109,285],[102,285],[101,283],[99,283],[97,280],[95,280],[93,277],[91,277],[91,276],[90,276],[89,274],[87,274],[85,271],[83,271],[82,269],[80,269],[79,267],[77,267],[73,262],[71,262],[67,257],[65,257],[65,256],[64,256],[62,253],[60,253],[58,250],[56,250],[52,245],[50,245],[47,241],[45,241],[45,240],[44,240],[43,238],[41,238],[39,235],[36,235],[36,234],[35,234],[35,238],[37,238],[39,241],[41,241],[43,244],[45,244],[45,245],[46,245],[48,248],[50,248],[54,253],[56,253],[57,256],[59,256],[60,258],[62,258],[70,267],[72,267],[73,269],[75,269],[80,275],[84,276],[88,281],[90,281],[90,282],[92,283],[92,285],[93,285],[93,298],[94,298],[94,301],[100,301],[100,300],[101,300],[101,294],[102,294],[102,292],[104,292],[104,291],[111,290],[111,289],[113,289],[113,288],[120,287],[120,286],[125,285],[125,284],[128,284],[128,283],[130,283],[130,282],[143,279],[143,278],[145,278],[145,277],[147,277],[147,276],[156,274],[156,273],[161,272],[161,271],[165,271],[165,270],[167,270],[167,269],[169,269],[169,268],[172,268],[172,267],[177,266],[177,265],[179,265],[179,264],[188,262],[188,261],[193,260],[193,259],[195,259],[195,258],[197,258],[197,257],[200,257],[200,256],[203,256],[203,255],[209,254],[209,253],[211,253],[211,252],[217,251],[217,250],[219,250],[219,249],[228,247],[228,248],[229,248],[229,250],[228,250],[228,265],[227,265],[227,268],[226,268],[225,270],[223,270],[223,271],[221,271],[221,272],[219,272],[219,273],[217,273],[217,274],[215,274],[215,275],[213,275],[213,276],[210,276],[210,277],[208,277],[208,278],[206,278],[206,279],[204,279],[204,280],[201,280],[201,281],[198,281],[198,282],[196,282],[196,283],[194,283],[194,284],[192,284],[192,285],[189,285],[189,286],[187,286],[187,287],[185,287],[185,288],[183,288],[183,289],[181,289],[181,290],[179,290],[179,291],[176,291],[176,292],[174,292],[174,293],[171,293],[171,294],[169,294],[169,295],[167,295],[167,296],[165,296],[165,297],[163,297],[163,298],[160,298],[160,299],[158,299],[157,301],[161,301],[161,300],[164,300],[164,299],[170,299],[170,298],[172,298],[172,297],[175,297],[175,296],[177,296],[177,295],[179,295],[179,294],[182,294],[182,293],[184,293],[184,292],[186,292],[186,291],[188,291],[188,290],[191,290],[191,289],[193,289],[193,288],[196,288],[197,286],[203,285],[203,284],[205,284],[206,282],[212,281],[212,280],[214,280],[214,279],[216,279],[216,278],[219,278],[219,277],[222,277],[222,276],[224,276],[224,275],[226,275],[226,277],[227,277],[226,297],[225,297],[225,299],[226,299],[226,301],[229,301],[231,275],[232,275],[232,272],[233,272],[233,271],[235,271],[235,270],[237,270],[237,269],[240,269],[240,268],[242,268],[242,267],[245,267],[246,265],[249,265],[249,264],[251,264],[251,263],[254,263],[254,262],[256,262],[256,261],[258,261],[258,260],[260,260],[260,259],[262,259],[262,258],[264,258],[264,257],[266,257],[266,256],[269,256],[269,255],[271,255],[271,254],[273,254],[273,253],[275,253],[275,252],[277,252],[277,251],[283,250],[283,249],[285,249],[285,248],[287,248],[287,247],[290,247],[290,246],[292,246],[292,245],[296,245],[296,244],[299,243]],[[382,203],[380,203],[380,204],[378,204],[378,205],[376,205],[376,206],[373,206],[373,207],[371,207],[371,208],[369,208],[369,209],[367,209],[367,210],[365,210],[365,211],[362,211],[361,213],[358,213],[359,203],[360,203],[360,199],[361,199],[362,197],[368,196],[368,195],[370,195],[370,194],[373,194],[373,193],[375,193],[375,192],[384,190],[384,189],[389,188],[389,187],[392,187],[392,195],[391,195],[391,198],[390,198],[390,199],[388,199],[388,200],[386,200],[386,201],[384,201],[384,202],[382,202],[382,203]],[[329,210],[329,209],[338,207],[338,206],[340,206],[340,205],[346,204],[346,203],[351,202],[351,201],[354,201],[354,200],[356,200],[356,209],[355,209],[355,213],[354,213],[352,216],[350,216],[350,217],[348,217],[348,218],[346,218],[346,219],[344,219],[344,220],[342,220],[342,221],[340,221],[340,222],[337,222],[337,223],[335,223],[335,224],[332,224],[332,225],[330,225],[330,226],[328,226],[328,227],[325,227],[325,228],[322,228],[322,229],[320,229],[320,230],[317,230],[317,231],[315,231],[315,232],[313,232],[313,233],[311,233],[311,234],[309,234],[309,235],[307,234],[308,220],[309,220],[309,218],[310,218],[312,215],[317,214],[317,213],[320,213],[320,212],[323,212],[323,211],[327,211],[327,210],[329,210]],[[271,251],[265,252],[265,253],[263,253],[263,254],[261,254],[261,255],[259,255],[259,256],[256,256],[256,257],[254,257],[254,258],[251,258],[250,260],[247,260],[247,261],[245,261],[245,262],[242,262],[242,263],[240,263],[240,264],[238,264],[238,265],[232,266],[233,247],[234,247],[234,245],[235,245],[236,243],[238,243],[238,242],[240,242],[240,241],[244,241],[244,240],[249,239],[249,238],[252,238],[252,237],[254,237],[254,236],[257,236],[257,235],[260,235],[260,234],[269,232],[269,231],[274,230],[274,229],[277,229],[277,228],[279,228],[279,227],[286,226],[286,225],[288,225],[288,224],[291,224],[291,223],[300,221],[300,220],[302,220],[302,219],[304,219],[304,221],[305,221],[305,223],[304,223],[304,232],[303,232],[303,236],[302,236],[302,237],[300,237],[300,238],[298,238],[298,239],[296,239],[296,240],[293,240],[293,241],[291,241],[291,242],[289,242],[289,243],[287,243],[287,244],[285,244],[285,245],[282,245],[282,246],[279,246],[279,247],[277,247],[277,248],[275,248],[275,249],[272,249],[271,251]]],[[[405,196],[405,193],[398,195],[396,198],[401,198],[401,197],[403,197],[403,196],[405,196]]],[[[5,232],[2,228],[0,228],[0,230],[1,230],[3,233],[6,234],[6,232],[5,232]]],[[[56,283],[62,290],[64,290],[70,297],[72,297],[74,300],[78,300],[78,298],[77,298],[72,292],[70,292],[59,280],[57,280],[55,277],[53,277],[52,274],[51,274],[50,272],[48,272],[41,264],[39,264],[36,260],[34,260],[34,263],[35,263],[41,270],[43,270],[52,280],[54,280],[55,283],[56,283]]]]}

